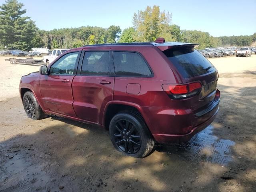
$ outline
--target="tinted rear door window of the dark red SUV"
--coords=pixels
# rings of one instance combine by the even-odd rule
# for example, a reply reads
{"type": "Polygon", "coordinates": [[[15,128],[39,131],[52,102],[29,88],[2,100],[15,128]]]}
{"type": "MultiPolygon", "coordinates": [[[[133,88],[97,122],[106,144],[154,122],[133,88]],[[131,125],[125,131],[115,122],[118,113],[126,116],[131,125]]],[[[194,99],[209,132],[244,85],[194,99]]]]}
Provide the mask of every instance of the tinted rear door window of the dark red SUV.
{"type": "Polygon", "coordinates": [[[110,56],[108,51],[87,51],[84,55],[81,74],[108,75],[110,56]]]}

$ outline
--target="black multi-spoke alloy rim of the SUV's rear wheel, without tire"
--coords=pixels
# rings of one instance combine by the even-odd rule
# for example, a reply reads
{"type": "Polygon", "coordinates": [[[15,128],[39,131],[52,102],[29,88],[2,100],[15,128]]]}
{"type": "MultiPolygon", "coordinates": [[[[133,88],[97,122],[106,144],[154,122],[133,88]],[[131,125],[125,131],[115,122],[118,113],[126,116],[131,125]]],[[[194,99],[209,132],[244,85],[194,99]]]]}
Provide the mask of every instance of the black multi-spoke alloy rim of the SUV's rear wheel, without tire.
{"type": "Polygon", "coordinates": [[[114,140],[117,146],[125,153],[135,154],[140,150],[141,137],[132,122],[122,119],[116,122],[114,140]]]}

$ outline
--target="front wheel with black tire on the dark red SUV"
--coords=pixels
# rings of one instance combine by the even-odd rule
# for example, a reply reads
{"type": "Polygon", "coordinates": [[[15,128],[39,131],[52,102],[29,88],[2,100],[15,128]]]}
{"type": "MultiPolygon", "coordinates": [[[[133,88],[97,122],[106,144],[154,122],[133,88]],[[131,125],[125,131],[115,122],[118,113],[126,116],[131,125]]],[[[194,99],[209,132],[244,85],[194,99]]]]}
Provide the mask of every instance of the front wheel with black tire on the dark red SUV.
{"type": "Polygon", "coordinates": [[[46,114],[43,112],[32,92],[27,91],[23,96],[22,102],[28,118],[34,120],[46,118],[46,114]]]}

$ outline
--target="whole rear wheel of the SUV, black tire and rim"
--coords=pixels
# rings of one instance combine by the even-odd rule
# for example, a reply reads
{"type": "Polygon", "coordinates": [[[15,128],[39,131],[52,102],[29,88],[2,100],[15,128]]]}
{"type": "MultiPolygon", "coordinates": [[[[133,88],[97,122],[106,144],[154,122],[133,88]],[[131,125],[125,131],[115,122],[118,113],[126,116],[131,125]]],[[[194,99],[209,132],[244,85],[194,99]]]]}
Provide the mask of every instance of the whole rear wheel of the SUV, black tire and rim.
{"type": "Polygon", "coordinates": [[[116,150],[127,156],[144,158],[154,148],[151,136],[142,117],[135,112],[120,112],[110,121],[109,134],[116,150]]]}

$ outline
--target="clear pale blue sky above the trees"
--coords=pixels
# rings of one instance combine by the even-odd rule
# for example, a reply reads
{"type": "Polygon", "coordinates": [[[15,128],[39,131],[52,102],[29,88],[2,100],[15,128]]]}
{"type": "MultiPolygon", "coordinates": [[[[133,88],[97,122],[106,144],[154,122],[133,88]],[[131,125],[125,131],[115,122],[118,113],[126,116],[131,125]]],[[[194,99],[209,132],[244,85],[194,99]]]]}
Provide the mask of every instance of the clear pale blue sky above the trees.
{"type": "MultiPolygon", "coordinates": [[[[172,13],[172,24],[181,30],[200,30],[212,36],[252,35],[256,32],[256,0],[18,0],[26,16],[39,29],[110,25],[122,30],[146,6],[160,6],[172,13]]],[[[4,0],[0,0],[2,5],[4,0]]]]}

